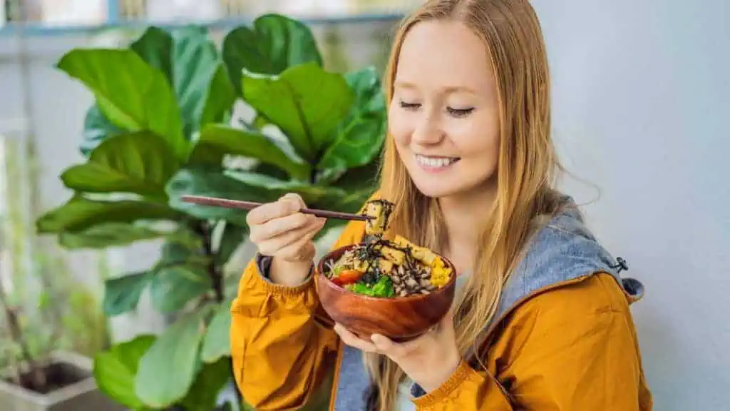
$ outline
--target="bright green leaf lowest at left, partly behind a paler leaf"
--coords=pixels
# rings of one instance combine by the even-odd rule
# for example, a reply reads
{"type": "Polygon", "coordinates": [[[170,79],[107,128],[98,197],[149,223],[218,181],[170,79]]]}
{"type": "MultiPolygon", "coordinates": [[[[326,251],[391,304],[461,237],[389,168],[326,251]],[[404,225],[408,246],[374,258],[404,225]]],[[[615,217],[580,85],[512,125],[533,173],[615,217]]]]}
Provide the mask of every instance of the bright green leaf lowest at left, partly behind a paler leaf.
{"type": "Polygon", "coordinates": [[[155,336],[141,335],[116,344],[108,351],[99,352],[93,363],[94,380],[99,391],[133,410],[144,410],[145,404],[134,393],[134,376],[139,359],[150,349],[155,339],[155,336]]]}

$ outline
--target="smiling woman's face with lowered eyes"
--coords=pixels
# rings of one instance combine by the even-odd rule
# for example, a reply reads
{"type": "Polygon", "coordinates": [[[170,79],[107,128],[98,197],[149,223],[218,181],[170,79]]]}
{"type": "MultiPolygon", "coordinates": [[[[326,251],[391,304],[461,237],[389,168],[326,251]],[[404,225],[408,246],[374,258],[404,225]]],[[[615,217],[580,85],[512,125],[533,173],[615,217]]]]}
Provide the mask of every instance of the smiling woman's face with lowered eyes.
{"type": "Polygon", "coordinates": [[[388,129],[424,195],[488,189],[499,153],[496,82],[483,41],[463,23],[418,23],[406,35],[388,129]]]}

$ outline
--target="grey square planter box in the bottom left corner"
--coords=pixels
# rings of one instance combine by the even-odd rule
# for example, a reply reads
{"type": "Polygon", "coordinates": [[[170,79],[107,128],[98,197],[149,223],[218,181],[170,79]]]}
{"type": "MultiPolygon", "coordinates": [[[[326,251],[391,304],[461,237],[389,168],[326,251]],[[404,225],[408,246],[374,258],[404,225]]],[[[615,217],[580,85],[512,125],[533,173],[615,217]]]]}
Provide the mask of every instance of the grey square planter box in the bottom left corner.
{"type": "Polygon", "coordinates": [[[50,393],[29,391],[0,378],[0,410],[2,411],[124,411],[125,408],[108,399],[96,388],[93,379],[93,361],[70,352],[55,352],[48,366],[56,371],[79,378],[50,393]]]}

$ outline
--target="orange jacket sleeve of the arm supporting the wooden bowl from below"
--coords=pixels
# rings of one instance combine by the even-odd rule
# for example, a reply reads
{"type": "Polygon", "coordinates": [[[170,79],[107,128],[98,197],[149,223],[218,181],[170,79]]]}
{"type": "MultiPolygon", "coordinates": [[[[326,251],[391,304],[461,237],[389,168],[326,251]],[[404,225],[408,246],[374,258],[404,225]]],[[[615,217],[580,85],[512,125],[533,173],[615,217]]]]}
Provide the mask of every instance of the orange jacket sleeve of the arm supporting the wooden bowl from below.
{"type": "Polygon", "coordinates": [[[490,347],[498,359],[487,372],[462,362],[414,400],[417,409],[650,410],[629,306],[613,281],[597,275],[524,303],[490,347]]]}

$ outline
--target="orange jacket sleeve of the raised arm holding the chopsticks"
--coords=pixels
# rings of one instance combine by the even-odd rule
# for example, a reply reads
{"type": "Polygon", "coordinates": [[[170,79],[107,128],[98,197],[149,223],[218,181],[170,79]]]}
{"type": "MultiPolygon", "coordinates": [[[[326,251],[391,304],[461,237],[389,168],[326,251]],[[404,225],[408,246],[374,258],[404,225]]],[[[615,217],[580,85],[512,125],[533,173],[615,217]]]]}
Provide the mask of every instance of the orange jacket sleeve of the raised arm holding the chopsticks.
{"type": "MultiPolygon", "coordinates": [[[[359,229],[350,223],[334,247],[357,241],[359,229]]],[[[255,410],[296,410],[326,377],[337,334],[323,324],[326,319],[320,321],[323,310],[311,275],[286,287],[269,281],[259,266],[266,264],[258,258],[247,265],[231,304],[234,377],[255,410]]]]}

